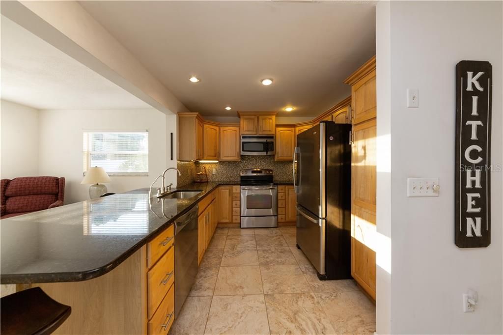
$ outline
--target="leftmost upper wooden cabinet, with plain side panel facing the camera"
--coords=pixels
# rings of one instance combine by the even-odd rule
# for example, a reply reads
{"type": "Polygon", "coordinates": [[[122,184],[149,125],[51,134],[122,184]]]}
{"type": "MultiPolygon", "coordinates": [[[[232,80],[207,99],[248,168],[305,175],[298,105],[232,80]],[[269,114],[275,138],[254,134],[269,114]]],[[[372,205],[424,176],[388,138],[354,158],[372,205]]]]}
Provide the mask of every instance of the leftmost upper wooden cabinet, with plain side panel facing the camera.
{"type": "Polygon", "coordinates": [[[178,114],[178,159],[203,159],[203,120],[198,113],[178,114]]]}

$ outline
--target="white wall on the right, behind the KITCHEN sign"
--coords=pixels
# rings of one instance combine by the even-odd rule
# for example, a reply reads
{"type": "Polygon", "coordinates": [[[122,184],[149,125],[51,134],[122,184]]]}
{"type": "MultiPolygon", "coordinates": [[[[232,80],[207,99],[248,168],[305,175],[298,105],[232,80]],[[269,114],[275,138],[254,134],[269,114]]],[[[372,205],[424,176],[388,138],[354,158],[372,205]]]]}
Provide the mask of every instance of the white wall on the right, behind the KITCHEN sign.
{"type": "Polygon", "coordinates": [[[378,185],[388,184],[391,193],[379,187],[377,197],[391,204],[391,212],[378,213],[377,226],[392,238],[389,282],[379,272],[377,277],[377,332],[503,333],[501,171],[491,173],[491,244],[458,248],[453,227],[455,66],[460,60],[492,64],[491,162],[502,162],[502,3],[377,6],[377,75],[391,73],[387,83],[378,79],[387,88],[378,90],[377,106],[379,135],[386,136],[387,128],[391,145],[391,150],[377,147],[378,157],[391,154],[390,179],[377,176],[378,185]],[[386,16],[389,31],[382,23],[386,16]],[[419,108],[405,107],[407,88],[419,90],[419,108]],[[408,177],[438,177],[440,196],[407,198],[408,177]],[[463,313],[462,294],[469,288],[478,291],[479,304],[474,313],[463,313]],[[388,299],[383,300],[388,316],[379,310],[380,299],[388,299]]]}

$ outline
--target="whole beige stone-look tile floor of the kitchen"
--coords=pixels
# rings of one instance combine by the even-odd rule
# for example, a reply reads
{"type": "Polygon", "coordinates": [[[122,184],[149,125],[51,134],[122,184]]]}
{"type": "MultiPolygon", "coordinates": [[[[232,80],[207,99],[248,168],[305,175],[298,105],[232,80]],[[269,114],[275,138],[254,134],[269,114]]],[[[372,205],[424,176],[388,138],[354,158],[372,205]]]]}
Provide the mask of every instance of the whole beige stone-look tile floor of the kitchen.
{"type": "Polygon", "coordinates": [[[353,280],[319,281],[295,227],[217,228],[170,334],[372,334],[353,280]]]}

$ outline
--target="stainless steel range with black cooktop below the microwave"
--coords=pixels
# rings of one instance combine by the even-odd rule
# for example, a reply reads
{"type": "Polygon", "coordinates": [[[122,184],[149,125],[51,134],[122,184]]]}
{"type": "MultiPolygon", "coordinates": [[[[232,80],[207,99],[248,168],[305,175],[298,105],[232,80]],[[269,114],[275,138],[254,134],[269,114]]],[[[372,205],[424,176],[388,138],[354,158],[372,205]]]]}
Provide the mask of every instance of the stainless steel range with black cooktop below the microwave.
{"type": "Polygon", "coordinates": [[[246,169],[241,179],[241,228],[278,226],[278,186],[273,171],[246,169]]]}

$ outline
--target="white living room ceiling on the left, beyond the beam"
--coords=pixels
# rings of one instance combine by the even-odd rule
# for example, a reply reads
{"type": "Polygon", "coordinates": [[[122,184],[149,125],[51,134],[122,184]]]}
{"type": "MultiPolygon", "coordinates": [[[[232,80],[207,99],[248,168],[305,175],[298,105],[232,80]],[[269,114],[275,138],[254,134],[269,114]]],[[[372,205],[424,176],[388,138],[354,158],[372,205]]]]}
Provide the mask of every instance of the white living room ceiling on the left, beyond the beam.
{"type": "Polygon", "coordinates": [[[152,108],[5,16],[1,98],[35,109],[152,108]]]}

